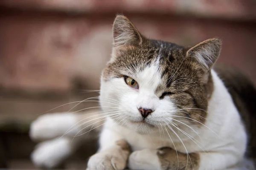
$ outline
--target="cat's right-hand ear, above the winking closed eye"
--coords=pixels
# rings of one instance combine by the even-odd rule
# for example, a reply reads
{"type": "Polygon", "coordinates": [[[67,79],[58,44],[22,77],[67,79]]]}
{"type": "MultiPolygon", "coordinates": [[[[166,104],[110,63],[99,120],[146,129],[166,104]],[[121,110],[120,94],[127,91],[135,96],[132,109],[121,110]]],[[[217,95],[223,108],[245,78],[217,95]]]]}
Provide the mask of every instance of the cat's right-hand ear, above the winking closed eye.
{"type": "Polygon", "coordinates": [[[218,38],[205,40],[190,48],[186,52],[187,57],[194,57],[205,71],[209,71],[217,61],[221,51],[221,40],[218,38]]]}

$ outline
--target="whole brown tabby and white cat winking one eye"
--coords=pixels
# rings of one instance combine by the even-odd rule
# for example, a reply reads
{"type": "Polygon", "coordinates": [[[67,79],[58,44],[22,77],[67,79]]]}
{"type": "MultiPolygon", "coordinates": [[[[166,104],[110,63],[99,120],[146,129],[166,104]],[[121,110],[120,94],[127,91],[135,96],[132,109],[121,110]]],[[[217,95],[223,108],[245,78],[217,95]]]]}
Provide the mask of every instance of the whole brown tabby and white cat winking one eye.
{"type": "Polygon", "coordinates": [[[148,39],[117,15],[102,110],[40,116],[30,136],[46,141],[32,161],[55,167],[99,133],[87,170],[253,170],[256,90],[238,71],[215,64],[220,51],[218,38],[192,47],[148,39]]]}

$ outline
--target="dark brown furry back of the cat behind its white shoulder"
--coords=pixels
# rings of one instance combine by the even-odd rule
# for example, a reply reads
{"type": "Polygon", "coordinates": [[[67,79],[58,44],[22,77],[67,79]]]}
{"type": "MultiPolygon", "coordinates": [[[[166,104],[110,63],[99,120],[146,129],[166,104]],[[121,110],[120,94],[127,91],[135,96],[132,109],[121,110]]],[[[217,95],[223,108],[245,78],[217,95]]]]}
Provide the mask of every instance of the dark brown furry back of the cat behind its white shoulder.
{"type": "Polygon", "coordinates": [[[256,158],[256,88],[237,68],[216,64],[213,69],[232,96],[249,135],[249,155],[256,158]]]}

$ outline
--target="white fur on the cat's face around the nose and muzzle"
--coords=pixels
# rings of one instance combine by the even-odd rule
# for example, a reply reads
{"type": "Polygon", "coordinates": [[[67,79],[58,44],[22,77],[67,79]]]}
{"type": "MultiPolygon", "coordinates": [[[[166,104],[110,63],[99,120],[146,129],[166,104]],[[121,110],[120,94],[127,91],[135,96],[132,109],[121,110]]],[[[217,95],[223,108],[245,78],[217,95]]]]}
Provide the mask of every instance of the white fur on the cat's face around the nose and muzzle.
{"type": "Polygon", "coordinates": [[[162,118],[170,114],[167,112],[175,110],[174,105],[168,98],[159,100],[159,97],[155,94],[157,86],[161,84],[157,64],[156,62],[136,75],[128,75],[139,83],[139,91],[128,86],[122,78],[112,79],[108,82],[102,81],[101,84],[101,105],[103,107],[118,107],[119,111],[122,112],[122,119],[125,119],[122,121],[123,126],[139,133],[150,133],[152,130],[156,130],[149,125],[160,125],[162,118]],[[111,104],[108,98],[115,99],[120,104],[111,104]],[[154,111],[153,114],[148,116],[149,119],[145,119],[148,124],[140,123],[142,116],[138,108],[154,111]]]}

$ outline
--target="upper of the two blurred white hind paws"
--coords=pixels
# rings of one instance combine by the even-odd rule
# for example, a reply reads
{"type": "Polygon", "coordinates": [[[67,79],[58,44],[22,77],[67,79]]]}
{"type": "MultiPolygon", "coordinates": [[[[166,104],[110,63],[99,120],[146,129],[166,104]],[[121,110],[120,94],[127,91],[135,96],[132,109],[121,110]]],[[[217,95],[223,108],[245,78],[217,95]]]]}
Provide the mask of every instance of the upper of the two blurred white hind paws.
{"type": "MultiPolygon", "coordinates": [[[[29,136],[33,140],[48,140],[62,136],[70,127],[77,123],[76,116],[70,113],[54,113],[39,116],[30,125],[29,136]]],[[[75,126],[74,126],[75,127],[75,126]]],[[[78,128],[72,130],[71,135],[76,135],[78,128]]],[[[70,135],[69,133],[69,135],[70,135]]]]}

